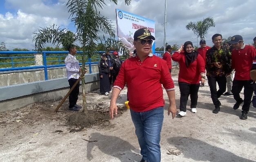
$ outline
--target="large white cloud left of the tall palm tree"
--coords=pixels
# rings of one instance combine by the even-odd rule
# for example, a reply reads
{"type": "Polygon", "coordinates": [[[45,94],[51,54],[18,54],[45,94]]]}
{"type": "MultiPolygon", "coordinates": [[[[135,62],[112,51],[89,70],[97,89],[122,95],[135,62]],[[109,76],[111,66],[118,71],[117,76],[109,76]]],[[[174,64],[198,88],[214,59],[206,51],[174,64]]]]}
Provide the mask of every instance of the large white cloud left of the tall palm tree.
{"type": "MultiPolygon", "coordinates": [[[[62,13],[67,13],[67,10],[65,12],[60,11],[58,4],[46,6],[43,3],[39,3],[41,0],[28,2],[7,0],[7,2],[13,7],[20,5],[17,13],[7,12],[5,15],[0,14],[0,42],[3,41],[8,46],[34,49],[34,43],[32,42],[33,32],[36,32],[39,27],[57,24],[64,28],[70,23],[69,15],[64,14],[65,18],[62,15],[62,13]],[[36,6],[36,4],[40,5],[36,6]]],[[[61,8],[63,4],[61,3],[59,6],[61,8]]]]}

